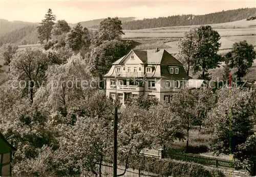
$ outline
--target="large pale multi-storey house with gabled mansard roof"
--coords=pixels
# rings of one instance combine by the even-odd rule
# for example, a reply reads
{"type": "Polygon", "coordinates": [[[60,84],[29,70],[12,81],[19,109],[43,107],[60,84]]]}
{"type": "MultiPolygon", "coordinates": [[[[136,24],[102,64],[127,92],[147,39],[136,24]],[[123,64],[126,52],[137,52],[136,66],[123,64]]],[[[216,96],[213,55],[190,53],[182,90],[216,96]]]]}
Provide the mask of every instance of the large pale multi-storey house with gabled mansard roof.
{"type": "Polygon", "coordinates": [[[139,94],[169,102],[190,77],[181,62],[166,50],[131,50],[104,75],[106,95],[122,103],[139,94]]]}

